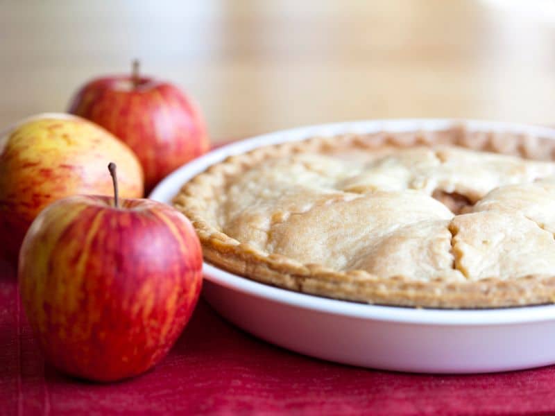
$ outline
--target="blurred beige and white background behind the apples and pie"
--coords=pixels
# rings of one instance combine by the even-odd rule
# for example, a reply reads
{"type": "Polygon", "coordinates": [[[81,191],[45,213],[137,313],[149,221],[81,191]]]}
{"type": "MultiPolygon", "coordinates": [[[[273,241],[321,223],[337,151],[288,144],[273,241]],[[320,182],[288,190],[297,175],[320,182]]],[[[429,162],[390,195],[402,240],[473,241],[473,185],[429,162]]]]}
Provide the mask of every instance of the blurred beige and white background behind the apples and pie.
{"type": "Polygon", "coordinates": [[[355,119],[555,123],[551,0],[0,0],[0,128],[89,78],[176,83],[214,141],[355,119]]]}

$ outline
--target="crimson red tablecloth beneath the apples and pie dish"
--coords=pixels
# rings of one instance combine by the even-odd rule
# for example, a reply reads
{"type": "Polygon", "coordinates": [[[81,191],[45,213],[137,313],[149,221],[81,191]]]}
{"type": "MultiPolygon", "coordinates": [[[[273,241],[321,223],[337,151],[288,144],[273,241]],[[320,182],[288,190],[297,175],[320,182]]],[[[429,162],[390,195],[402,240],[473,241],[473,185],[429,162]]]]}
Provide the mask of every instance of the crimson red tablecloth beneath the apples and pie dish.
{"type": "Polygon", "coordinates": [[[287,352],[236,329],[201,301],[154,370],[112,384],[45,364],[0,263],[0,414],[555,414],[555,366],[477,376],[364,370],[287,352]]]}

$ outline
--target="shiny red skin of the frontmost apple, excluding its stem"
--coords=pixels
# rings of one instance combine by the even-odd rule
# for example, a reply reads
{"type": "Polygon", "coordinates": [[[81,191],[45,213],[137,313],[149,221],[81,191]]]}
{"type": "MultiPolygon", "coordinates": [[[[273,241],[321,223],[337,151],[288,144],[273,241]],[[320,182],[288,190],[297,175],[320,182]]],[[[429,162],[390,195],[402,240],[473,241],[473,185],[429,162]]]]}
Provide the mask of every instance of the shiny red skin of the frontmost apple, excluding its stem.
{"type": "Polygon", "coordinates": [[[194,311],[202,252],[191,223],[153,200],[73,196],[37,216],[19,288],[47,361],[116,381],[159,362],[194,311]]]}

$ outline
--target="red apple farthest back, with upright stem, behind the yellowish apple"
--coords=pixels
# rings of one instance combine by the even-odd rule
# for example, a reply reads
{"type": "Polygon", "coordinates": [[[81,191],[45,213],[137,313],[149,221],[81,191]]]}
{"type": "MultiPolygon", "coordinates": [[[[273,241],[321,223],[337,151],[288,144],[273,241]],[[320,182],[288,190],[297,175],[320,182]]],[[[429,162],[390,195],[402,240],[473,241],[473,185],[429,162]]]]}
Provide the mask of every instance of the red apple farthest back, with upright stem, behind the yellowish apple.
{"type": "Polygon", "coordinates": [[[109,130],[133,149],[145,173],[147,194],[210,143],[200,112],[178,87],[133,73],[89,81],[71,100],[69,112],[109,130]]]}

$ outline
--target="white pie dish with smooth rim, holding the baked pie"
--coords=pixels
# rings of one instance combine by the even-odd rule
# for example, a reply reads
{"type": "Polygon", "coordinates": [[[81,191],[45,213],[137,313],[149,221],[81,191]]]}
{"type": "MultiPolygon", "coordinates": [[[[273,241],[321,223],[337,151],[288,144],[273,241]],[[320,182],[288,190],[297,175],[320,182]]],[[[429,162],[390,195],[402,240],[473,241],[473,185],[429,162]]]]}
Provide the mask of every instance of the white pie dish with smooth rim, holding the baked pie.
{"type": "MultiPolygon", "coordinates": [[[[171,173],[151,193],[170,203],[190,177],[229,155],[314,135],[439,130],[461,121],[386,120],[317,125],[230,144],[171,173]]],[[[527,132],[531,125],[463,121],[469,129],[527,132]]],[[[204,264],[205,299],[259,338],[329,361],[384,370],[432,373],[499,372],[555,363],[555,305],[454,311],[375,306],[287,291],[204,264]]]]}

